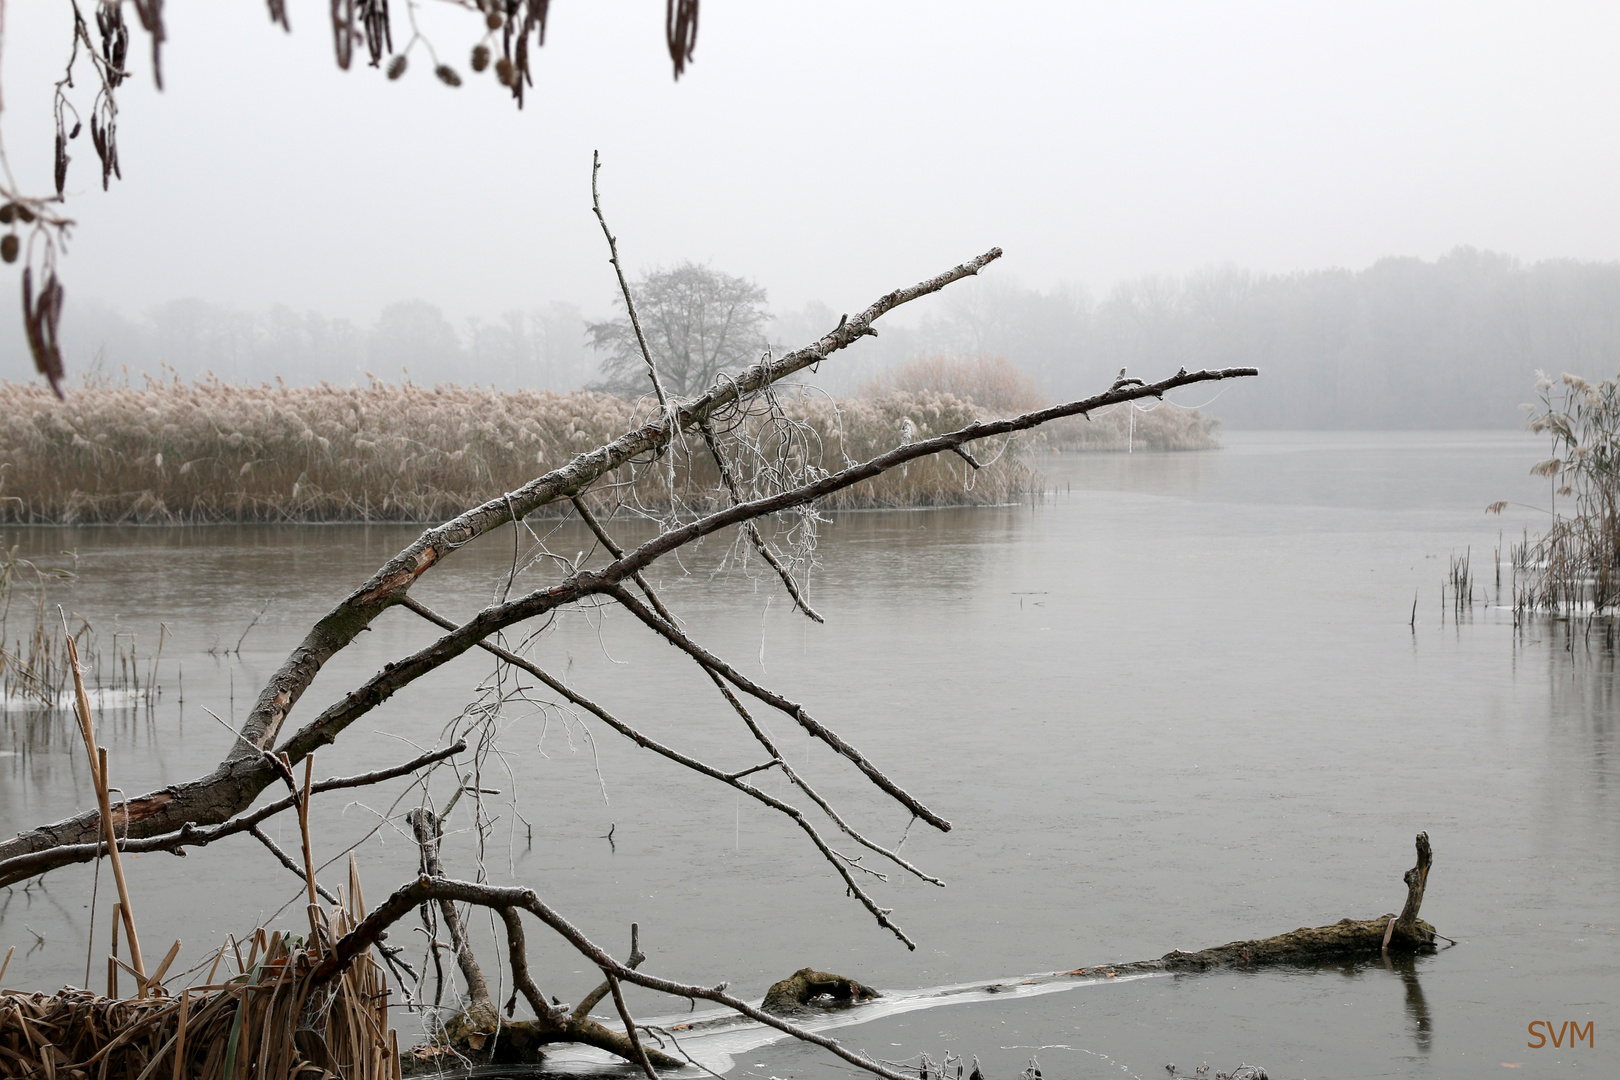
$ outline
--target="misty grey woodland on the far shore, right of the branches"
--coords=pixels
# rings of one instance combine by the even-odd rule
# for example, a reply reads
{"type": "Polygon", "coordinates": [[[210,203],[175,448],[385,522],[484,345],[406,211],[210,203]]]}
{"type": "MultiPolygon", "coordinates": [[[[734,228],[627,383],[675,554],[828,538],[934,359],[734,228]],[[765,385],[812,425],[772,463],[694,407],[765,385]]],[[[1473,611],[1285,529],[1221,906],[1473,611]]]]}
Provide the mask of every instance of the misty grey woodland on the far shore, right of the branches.
{"type": "Polygon", "coordinates": [[[1620,262],[1458,248],[1359,272],[1144,277],[1100,301],[985,275],[889,348],[1001,355],[1059,398],[1119,368],[1254,366],[1209,408],[1236,427],[1513,427],[1537,369],[1620,369],[1620,262]]]}

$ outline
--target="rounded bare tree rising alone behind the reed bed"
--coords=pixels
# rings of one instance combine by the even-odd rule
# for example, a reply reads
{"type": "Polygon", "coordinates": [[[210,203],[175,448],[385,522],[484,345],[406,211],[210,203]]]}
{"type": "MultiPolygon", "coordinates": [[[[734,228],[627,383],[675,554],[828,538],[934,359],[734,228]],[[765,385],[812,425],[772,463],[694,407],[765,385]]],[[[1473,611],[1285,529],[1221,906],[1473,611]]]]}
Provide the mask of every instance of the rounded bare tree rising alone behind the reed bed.
{"type": "MultiPolygon", "coordinates": [[[[721,374],[735,374],[765,350],[771,313],[765,290],[697,262],[653,270],[630,287],[646,348],[664,390],[695,397],[721,374]]],[[[620,298],[619,306],[624,308],[620,298]]],[[[646,393],[646,361],[629,313],[586,325],[591,348],[604,353],[593,389],[620,397],[646,393]]]]}

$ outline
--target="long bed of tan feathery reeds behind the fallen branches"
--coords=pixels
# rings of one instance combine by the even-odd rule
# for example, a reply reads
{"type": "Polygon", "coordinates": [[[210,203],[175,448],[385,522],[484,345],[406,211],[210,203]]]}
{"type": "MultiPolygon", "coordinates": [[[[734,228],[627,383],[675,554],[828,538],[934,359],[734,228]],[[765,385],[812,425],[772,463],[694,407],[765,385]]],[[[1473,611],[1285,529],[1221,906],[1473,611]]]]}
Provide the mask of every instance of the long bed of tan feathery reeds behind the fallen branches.
{"type": "MultiPolygon", "coordinates": [[[[940,432],[978,413],[933,390],[836,403],[784,392],[778,406],[776,421],[810,429],[800,465],[826,470],[894,447],[907,416],[940,432]]],[[[645,405],[604,393],[209,379],[89,385],[57,402],[42,387],[0,382],[0,521],[437,521],[645,419],[645,405]]],[[[773,418],[734,423],[766,437],[773,418]]],[[[1006,500],[1034,481],[1019,450],[970,479],[959,458],[914,463],[828,505],[1006,500]]],[[[677,458],[692,463],[688,491],[713,479],[690,447],[677,458]]],[[[669,500],[659,468],[612,479],[642,505],[669,500]]]]}

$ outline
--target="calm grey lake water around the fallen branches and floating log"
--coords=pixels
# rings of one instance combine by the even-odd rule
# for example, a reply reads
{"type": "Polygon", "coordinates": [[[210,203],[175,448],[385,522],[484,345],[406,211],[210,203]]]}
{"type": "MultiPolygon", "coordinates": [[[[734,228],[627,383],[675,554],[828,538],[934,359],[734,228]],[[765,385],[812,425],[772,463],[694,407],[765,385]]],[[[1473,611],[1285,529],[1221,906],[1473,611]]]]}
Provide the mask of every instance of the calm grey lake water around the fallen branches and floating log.
{"type": "MultiPolygon", "coordinates": [[[[854,1023],[839,1038],[889,1061],[977,1054],[991,1080],[1030,1054],[1048,1077],[1155,1077],[1202,1061],[1256,1062],[1273,1077],[1596,1072],[1602,1051],[1531,1049],[1526,1028],[1592,1022],[1602,1046],[1620,1018],[1614,657],[1601,635],[1516,631],[1510,612],[1484,604],[1458,625],[1440,601],[1448,555],[1469,546],[1494,594],[1498,529],[1513,539],[1537,515],[1482,510],[1544,500],[1528,476],[1541,447],[1508,432],[1233,432],[1228,444],[1048,460],[1053,494],[1034,505],[842,515],[825,529],[812,586],[826,627],[792,614],[768,580],[711,576],[723,544],[693,552],[685,573],[659,567],[654,580],[693,636],[805,703],[954,823],[949,834],[919,823],[904,847],[949,887],[873,882],[915,952],[763,808],[520,701],[502,712],[504,764],[480,780],[501,790],[486,797],[499,814],[491,878],[533,886],[616,954],[640,923],[646,970],[659,975],[729,980],[757,999],[810,965],[896,991],[886,1014],[841,1014],[854,1023]],[[925,988],[1016,984],[1398,910],[1419,829],[1435,848],[1424,916],[1460,944],[1414,963],[901,1007],[925,988]]],[[[143,649],[159,620],[175,633],[157,708],[100,721],[115,782],[147,790],[212,764],[228,735],[204,708],[240,722],[301,628],[413,533],[13,529],[6,542],[60,565],[71,560],[57,552],[76,552],[68,599],[99,627],[117,617],[143,649]],[[266,599],[240,656],[207,653],[233,646],[266,599]],[[183,667],[183,704],[172,664],[183,667]]],[[[554,547],[588,542],[564,529],[554,547]]],[[[501,588],[510,559],[505,529],[434,570],[418,596],[465,615],[501,588]]],[[[390,612],[322,674],[295,722],[431,636],[390,612]]],[[[724,767],[760,759],[713,688],[625,617],[565,619],[535,656],[658,738],[724,767]]],[[[437,672],[324,750],[318,776],[413,756],[491,670],[463,657],[437,672]]],[[[885,842],[904,834],[902,810],[789,721],[763,719],[860,827],[885,842]]],[[[5,714],[0,827],[89,806],[76,755],[58,721],[5,714]]],[[[766,777],[766,790],[787,793],[766,777]]],[[[384,819],[399,790],[316,805],[321,858],[377,831],[363,848],[373,904],[415,868],[384,819]]],[[[296,842],[288,821],[269,832],[296,842]]],[[[452,837],[449,863],[473,873],[468,834],[452,837]]],[[[130,874],[147,952],[181,938],[193,959],[298,894],[243,837],[185,861],[136,858],[130,874]]],[[[324,878],[340,884],[340,863],[324,878]]],[[[75,868],[0,895],[0,942],[21,946],[6,984],[84,981],[91,882],[75,868]]],[[[277,925],[293,926],[295,913],[277,925]]],[[[531,941],[541,988],[578,1001],[595,983],[585,965],[531,941]]],[[[496,952],[483,954],[494,967],[496,952]]],[[[632,1007],[671,1010],[638,996],[632,1007]]],[[[844,1069],[820,1051],[729,1038],[705,1052],[732,1061],[731,1075],[844,1069]]]]}

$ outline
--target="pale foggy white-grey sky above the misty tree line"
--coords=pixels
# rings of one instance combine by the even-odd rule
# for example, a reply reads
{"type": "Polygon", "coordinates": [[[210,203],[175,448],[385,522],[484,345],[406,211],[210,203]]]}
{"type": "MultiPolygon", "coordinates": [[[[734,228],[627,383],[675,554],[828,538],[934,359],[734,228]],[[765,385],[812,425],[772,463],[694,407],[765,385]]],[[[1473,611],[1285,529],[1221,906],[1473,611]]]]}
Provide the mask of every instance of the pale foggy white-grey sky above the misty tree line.
{"type": "MultiPolygon", "coordinates": [[[[324,6],[290,0],[288,36],[261,0],[170,0],[160,94],[133,31],[125,180],[102,194],[73,144],[70,303],[603,313],[593,149],[627,270],[708,261],[778,309],[855,309],[993,244],[996,274],[1094,290],[1458,244],[1620,257],[1610,3],[705,0],[674,83],[663,3],[557,0],[522,112],[467,70],[467,13],[424,5],[449,89],[420,49],[399,83],[337,71],[324,6]]],[[[6,6],[5,146],[34,191],[68,29],[6,6]]],[[[0,377],[29,371],[0,342],[0,377]]]]}

